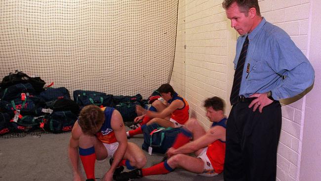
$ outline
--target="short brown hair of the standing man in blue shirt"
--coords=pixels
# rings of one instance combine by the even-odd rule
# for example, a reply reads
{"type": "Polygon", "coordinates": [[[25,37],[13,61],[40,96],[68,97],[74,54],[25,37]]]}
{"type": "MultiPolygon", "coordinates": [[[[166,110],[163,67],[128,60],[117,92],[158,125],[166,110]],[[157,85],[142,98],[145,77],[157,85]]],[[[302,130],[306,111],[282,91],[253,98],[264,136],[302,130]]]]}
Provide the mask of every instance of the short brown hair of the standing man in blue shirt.
{"type": "Polygon", "coordinates": [[[234,2],[238,4],[240,11],[245,13],[246,16],[251,7],[256,9],[256,15],[261,16],[258,0],[223,0],[222,6],[224,9],[228,9],[234,2]]]}

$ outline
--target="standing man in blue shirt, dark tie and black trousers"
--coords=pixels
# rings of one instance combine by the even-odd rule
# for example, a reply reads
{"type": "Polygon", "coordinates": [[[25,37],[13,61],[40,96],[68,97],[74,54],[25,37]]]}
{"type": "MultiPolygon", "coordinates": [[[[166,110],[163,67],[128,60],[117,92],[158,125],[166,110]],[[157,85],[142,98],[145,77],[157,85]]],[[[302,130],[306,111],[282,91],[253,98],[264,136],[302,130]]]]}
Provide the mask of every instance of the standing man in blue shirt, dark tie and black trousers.
{"type": "Polygon", "coordinates": [[[310,87],[314,70],[290,37],[261,16],[258,0],[223,0],[222,5],[231,27],[241,35],[234,59],[224,180],[275,181],[279,100],[310,87]]]}

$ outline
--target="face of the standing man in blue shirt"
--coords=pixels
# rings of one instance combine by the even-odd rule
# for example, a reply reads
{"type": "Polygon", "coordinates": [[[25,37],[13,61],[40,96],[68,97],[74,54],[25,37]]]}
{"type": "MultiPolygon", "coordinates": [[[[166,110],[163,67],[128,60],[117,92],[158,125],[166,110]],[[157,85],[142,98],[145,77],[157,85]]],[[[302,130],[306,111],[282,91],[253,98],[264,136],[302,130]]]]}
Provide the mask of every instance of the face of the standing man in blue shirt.
{"type": "Polygon", "coordinates": [[[226,16],[231,20],[231,27],[234,28],[240,35],[245,35],[251,31],[252,18],[245,15],[245,12],[241,12],[238,4],[234,2],[231,6],[226,9],[226,16]]]}

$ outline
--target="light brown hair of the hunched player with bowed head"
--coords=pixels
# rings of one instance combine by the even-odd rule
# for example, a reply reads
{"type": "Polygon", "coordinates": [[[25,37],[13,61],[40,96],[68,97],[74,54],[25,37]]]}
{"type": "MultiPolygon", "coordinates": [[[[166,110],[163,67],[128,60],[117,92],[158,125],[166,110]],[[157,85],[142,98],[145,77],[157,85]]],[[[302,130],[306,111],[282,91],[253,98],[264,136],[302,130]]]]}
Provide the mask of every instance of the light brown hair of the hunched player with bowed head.
{"type": "Polygon", "coordinates": [[[85,135],[96,134],[105,121],[104,111],[96,105],[84,106],[79,114],[78,124],[85,135]]]}

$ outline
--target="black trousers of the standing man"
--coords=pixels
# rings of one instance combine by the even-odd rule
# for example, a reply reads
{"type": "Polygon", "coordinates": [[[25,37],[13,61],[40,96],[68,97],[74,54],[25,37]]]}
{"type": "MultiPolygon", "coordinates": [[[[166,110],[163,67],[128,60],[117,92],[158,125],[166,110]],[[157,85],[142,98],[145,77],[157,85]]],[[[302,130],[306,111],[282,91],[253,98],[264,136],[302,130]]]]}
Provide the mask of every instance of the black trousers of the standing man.
{"type": "Polygon", "coordinates": [[[253,112],[249,103],[232,107],[226,129],[224,181],[275,181],[281,104],[253,112]]]}

